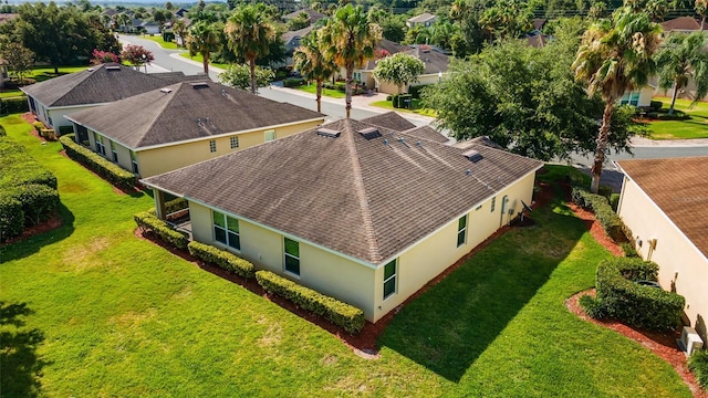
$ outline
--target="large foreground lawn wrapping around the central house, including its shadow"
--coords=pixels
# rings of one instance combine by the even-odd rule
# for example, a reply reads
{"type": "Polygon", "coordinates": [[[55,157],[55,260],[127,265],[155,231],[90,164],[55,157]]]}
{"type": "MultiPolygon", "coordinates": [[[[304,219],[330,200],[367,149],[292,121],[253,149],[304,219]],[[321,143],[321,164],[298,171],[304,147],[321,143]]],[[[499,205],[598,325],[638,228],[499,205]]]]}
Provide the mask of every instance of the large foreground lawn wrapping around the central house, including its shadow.
{"type": "Polygon", "coordinates": [[[565,310],[610,254],[561,203],[406,306],[367,360],[135,238],[149,196],[115,193],[17,116],[0,123],[55,172],[65,220],[0,249],[3,396],[690,397],[646,348],[565,310]]]}

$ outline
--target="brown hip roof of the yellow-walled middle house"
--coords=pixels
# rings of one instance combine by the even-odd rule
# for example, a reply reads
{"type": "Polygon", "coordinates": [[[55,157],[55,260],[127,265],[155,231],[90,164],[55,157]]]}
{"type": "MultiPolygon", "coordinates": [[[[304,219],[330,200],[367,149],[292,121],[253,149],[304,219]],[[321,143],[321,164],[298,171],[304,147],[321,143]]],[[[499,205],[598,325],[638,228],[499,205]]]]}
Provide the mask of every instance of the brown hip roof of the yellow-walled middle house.
{"type": "Polygon", "coordinates": [[[323,118],[219,83],[178,83],[69,118],[131,148],[323,118]]]}

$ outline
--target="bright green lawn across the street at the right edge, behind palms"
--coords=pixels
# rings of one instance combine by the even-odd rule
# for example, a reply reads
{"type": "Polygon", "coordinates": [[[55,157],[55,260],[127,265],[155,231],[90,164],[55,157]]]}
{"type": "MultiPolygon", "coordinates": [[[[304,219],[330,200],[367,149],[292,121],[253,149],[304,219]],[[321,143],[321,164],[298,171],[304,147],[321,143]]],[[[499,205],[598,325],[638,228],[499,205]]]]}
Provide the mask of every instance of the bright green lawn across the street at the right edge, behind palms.
{"type": "MultiPolygon", "coordinates": [[[[654,101],[663,102],[665,108],[671,104],[670,97],[654,97],[654,101]]],[[[688,100],[676,100],[676,109],[690,115],[690,119],[652,122],[648,126],[650,137],[654,139],[708,138],[708,103],[699,102],[691,108],[689,105],[688,100]]]]}

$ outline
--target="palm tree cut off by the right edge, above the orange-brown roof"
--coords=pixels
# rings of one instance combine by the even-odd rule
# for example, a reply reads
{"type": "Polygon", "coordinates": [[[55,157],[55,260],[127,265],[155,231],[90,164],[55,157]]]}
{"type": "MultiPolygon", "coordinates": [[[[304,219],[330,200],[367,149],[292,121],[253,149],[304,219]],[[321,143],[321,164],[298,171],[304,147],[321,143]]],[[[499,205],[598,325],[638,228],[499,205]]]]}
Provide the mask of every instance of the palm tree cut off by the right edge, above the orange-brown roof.
{"type": "Polygon", "coordinates": [[[656,63],[659,69],[659,86],[669,88],[674,86],[671,106],[668,114],[674,114],[676,94],[688,85],[693,77],[696,82],[696,98],[702,98],[708,93],[708,53],[704,51],[706,36],[700,32],[690,35],[675,33],[656,54],[656,63]]]}

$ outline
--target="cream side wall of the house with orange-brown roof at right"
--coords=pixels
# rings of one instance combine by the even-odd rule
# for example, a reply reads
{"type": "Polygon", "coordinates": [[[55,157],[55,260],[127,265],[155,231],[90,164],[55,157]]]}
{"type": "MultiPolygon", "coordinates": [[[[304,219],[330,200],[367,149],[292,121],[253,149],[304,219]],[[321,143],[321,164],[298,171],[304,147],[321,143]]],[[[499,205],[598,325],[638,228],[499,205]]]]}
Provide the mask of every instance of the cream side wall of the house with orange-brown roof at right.
{"type": "MultiPolygon", "coordinates": [[[[677,201],[676,206],[680,206],[677,201]]],[[[637,251],[645,260],[659,264],[659,283],[686,297],[685,313],[704,341],[708,322],[708,259],[680,232],[636,182],[625,177],[617,212],[634,238],[642,241],[637,251]],[[649,241],[656,249],[649,255],[649,241]],[[678,274],[678,276],[677,276],[678,274]]]]}

